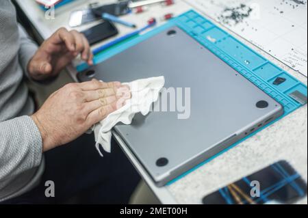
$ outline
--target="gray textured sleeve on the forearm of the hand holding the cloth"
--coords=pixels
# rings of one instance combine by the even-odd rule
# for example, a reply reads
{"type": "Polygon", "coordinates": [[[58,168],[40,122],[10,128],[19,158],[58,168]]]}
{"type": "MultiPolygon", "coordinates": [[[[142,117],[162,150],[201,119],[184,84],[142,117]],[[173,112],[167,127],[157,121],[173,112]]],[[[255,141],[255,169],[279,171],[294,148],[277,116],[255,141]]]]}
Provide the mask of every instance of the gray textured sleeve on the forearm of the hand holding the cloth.
{"type": "Polygon", "coordinates": [[[42,138],[29,116],[0,122],[0,184],[38,167],[41,159],[42,138]]]}

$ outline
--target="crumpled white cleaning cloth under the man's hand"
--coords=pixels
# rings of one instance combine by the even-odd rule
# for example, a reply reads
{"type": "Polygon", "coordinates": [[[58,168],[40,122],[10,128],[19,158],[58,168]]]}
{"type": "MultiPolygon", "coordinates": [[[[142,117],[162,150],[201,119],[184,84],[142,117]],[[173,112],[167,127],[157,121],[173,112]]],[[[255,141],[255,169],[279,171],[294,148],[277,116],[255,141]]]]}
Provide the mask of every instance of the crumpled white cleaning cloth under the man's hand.
{"type": "Polygon", "coordinates": [[[102,146],[105,152],[111,152],[112,128],[119,122],[127,125],[131,124],[131,120],[133,120],[136,113],[148,114],[152,103],[157,101],[159,92],[164,87],[164,84],[164,77],[153,77],[136,80],[131,83],[123,83],[123,85],[129,86],[131,98],[126,100],[126,104],[123,107],[110,113],[107,118],[94,126],[96,147],[101,156],[103,154],[99,150],[99,146],[102,146]]]}

